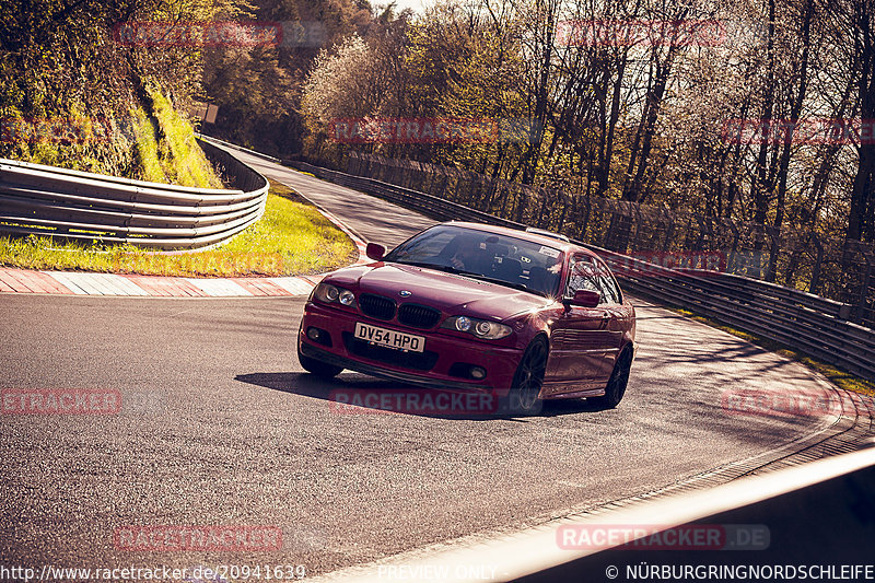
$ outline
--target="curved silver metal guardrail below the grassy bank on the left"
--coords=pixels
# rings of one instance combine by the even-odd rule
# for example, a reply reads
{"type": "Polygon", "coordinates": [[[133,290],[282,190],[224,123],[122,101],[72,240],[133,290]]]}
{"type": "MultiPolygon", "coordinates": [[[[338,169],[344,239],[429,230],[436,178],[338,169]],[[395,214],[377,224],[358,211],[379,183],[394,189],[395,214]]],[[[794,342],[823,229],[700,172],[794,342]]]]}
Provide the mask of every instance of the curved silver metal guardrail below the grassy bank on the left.
{"type": "Polygon", "coordinates": [[[268,182],[199,141],[236,189],[190,188],[0,159],[0,233],[196,248],[240,233],[265,212],[268,182]]]}

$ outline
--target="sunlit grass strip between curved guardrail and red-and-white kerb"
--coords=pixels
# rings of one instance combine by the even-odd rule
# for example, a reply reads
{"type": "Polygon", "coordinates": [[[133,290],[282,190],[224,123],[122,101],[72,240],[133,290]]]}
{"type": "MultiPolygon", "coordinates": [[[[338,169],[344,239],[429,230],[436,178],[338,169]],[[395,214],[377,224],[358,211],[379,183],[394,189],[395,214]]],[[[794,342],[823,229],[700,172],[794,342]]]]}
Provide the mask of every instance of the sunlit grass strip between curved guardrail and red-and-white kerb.
{"type": "Polygon", "coordinates": [[[264,217],[230,242],[203,252],[154,253],[132,245],[0,238],[0,265],[182,277],[299,276],[354,261],[355,244],[293,190],[272,183],[264,217]]]}

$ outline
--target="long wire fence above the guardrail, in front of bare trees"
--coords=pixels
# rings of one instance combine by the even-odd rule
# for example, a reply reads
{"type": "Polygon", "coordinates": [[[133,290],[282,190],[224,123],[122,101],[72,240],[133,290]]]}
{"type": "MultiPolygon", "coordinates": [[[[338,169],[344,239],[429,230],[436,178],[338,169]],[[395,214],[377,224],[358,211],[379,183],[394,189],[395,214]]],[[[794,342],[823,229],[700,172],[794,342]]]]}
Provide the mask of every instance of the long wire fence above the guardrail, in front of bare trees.
{"type": "MultiPolygon", "coordinates": [[[[777,230],[668,208],[511,183],[447,166],[349,152],[349,174],[419,190],[482,212],[561,232],[622,254],[721,257],[721,270],[852,306],[875,326],[875,245],[777,230]]],[[[689,265],[685,267],[697,268],[689,265]]]]}

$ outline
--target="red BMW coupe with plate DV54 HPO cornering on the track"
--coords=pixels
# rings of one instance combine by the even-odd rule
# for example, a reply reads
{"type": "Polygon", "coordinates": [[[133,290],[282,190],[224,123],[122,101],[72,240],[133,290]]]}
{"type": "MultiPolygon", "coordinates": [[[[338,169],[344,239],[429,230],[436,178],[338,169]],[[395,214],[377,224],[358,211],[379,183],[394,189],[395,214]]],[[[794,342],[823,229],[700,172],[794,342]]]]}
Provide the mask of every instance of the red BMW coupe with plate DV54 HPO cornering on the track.
{"type": "Polygon", "coordinates": [[[308,372],[343,369],[425,387],[506,397],[620,403],[635,353],[635,311],[594,253],[546,231],[450,222],[374,263],[325,277],[301,320],[308,372]]]}

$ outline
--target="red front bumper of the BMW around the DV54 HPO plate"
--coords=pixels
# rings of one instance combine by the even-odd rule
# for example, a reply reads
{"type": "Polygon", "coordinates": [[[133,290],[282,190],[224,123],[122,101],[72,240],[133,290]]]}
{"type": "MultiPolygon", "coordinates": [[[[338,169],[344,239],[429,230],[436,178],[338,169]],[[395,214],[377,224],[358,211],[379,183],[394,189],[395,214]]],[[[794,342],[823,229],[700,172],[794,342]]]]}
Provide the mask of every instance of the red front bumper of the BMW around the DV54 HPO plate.
{"type": "MultiPolygon", "coordinates": [[[[478,392],[506,389],[522,355],[522,350],[489,346],[487,341],[453,336],[439,330],[422,330],[401,326],[395,322],[369,318],[358,312],[338,310],[317,303],[307,303],[301,323],[298,346],[300,352],[312,359],[335,364],[343,369],[402,383],[432,388],[457,388],[478,392]],[[361,322],[381,328],[423,336],[425,351],[420,354],[385,353],[364,349],[361,341],[353,340],[355,323],[361,322]],[[326,330],[331,346],[317,343],[306,337],[311,327],[326,330]],[[409,363],[408,363],[409,361],[409,363]],[[415,362],[416,361],[416,362],[415,362]],[[487,371],[486,378],[475,381],[454,374],[454,365],[480,366],[487,371]]],[[[388,350],[388,349],[387,349],[388,350]]]]}

